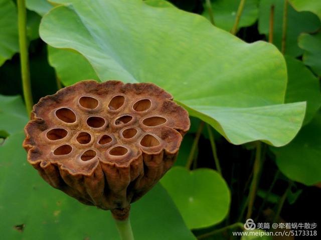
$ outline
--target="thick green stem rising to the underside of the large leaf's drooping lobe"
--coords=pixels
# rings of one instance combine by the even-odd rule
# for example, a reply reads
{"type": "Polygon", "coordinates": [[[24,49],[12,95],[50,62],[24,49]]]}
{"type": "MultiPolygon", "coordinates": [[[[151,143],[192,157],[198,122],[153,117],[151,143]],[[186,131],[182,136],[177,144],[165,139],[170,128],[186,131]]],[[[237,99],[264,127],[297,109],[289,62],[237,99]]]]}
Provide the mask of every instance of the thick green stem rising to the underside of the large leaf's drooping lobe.
{"type": "Polygon", "coordinates": [[[261,152],[262,152],[262,143],[260,141],[257,141],[255,160],[253,165],[253,178],[250,186],[246,218],[250,218],[253,211],[253,204],[256,196],[256,190],[257,190],[257,185],[258,185],[259,175],[260,175],[260,170],[262,165],[261,152]]]}

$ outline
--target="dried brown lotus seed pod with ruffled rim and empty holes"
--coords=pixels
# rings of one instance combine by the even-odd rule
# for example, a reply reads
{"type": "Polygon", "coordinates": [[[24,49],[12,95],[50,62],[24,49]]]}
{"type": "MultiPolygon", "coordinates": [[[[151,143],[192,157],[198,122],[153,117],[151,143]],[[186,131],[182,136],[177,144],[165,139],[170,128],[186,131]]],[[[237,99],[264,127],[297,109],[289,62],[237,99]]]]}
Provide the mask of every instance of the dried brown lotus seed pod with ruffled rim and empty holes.
{"type": "Polygon", "coordinates": [[[85,204],[126,208],[173,165],[190,127],[172,99],[151,83],[65,87],[34,106],[25,127],[28,161],[85,204]]]}

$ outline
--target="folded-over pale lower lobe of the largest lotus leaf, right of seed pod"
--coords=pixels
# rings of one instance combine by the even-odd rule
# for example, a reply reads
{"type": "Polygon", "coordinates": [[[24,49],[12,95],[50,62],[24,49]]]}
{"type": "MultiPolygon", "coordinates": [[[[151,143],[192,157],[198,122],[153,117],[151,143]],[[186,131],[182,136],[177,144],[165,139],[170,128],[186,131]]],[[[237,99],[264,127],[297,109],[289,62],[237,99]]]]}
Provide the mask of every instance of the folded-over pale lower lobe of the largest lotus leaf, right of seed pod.
{"type": "Polygon", "coordinates": [[[233,144],[262,140],[282,146],[292,140],[293,132],[299,131],[296,126],[302,125],[305,106],[305,102],[296,102],[248,108],[202,107],[200,112],[195,112],[193,106],[185,107],[233,144]]]}

